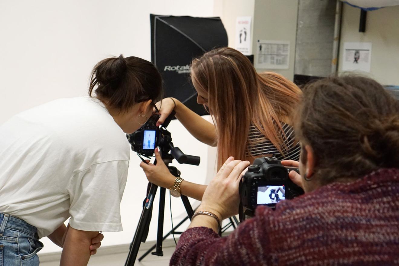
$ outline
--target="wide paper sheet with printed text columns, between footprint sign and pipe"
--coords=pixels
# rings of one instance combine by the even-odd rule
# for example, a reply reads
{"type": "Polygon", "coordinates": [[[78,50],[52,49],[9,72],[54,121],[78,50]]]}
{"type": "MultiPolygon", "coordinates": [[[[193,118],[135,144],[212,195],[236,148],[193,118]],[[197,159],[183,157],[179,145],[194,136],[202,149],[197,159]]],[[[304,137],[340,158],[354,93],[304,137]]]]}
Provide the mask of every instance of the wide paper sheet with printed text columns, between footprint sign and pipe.
{"type": "Polygon", "coordinates": [[[256,50],[256,68],[288,69],[290,62],[289,41],[258,40],[256,50]]]}

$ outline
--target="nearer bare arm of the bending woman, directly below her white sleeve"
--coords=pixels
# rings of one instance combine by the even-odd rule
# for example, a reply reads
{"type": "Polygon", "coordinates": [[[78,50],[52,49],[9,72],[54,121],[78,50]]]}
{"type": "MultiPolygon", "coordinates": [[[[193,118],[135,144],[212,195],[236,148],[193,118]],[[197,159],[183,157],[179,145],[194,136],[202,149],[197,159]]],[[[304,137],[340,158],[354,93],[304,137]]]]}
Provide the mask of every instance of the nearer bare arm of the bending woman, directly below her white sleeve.
{"type": "Polygon", "coordinates": [[[90,258],[91,239],[98,232],[70,228],[61,253],[60,266],[87,266],[90,258]]]}

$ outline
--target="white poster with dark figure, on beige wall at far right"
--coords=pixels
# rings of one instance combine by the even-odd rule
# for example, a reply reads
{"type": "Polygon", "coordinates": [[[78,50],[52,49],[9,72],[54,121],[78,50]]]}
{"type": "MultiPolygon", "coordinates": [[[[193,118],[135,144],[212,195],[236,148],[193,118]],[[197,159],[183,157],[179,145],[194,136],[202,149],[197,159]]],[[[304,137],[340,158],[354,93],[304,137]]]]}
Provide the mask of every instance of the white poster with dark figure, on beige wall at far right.
{"type": "Polygon", "coordinates": [[[342,60],[342,71],[370,72],[371,43],[346,42],[342,60]]]}

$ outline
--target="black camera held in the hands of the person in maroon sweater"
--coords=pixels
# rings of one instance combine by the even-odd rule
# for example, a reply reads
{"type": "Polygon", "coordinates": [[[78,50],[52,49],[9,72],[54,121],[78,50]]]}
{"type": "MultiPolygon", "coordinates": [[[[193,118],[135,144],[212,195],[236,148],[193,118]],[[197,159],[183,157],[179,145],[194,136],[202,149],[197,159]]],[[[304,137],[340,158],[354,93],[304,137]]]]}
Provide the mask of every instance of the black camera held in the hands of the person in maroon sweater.
{"type": "Polygon", "coordinates": [[[243,175],[239,187],[243,214],[253,216],[258,205],[275,208],[285,199],[293,199],[304,193],[288,176],[298,168],[284,167],[275,157],[257,158],[243,175]]]}

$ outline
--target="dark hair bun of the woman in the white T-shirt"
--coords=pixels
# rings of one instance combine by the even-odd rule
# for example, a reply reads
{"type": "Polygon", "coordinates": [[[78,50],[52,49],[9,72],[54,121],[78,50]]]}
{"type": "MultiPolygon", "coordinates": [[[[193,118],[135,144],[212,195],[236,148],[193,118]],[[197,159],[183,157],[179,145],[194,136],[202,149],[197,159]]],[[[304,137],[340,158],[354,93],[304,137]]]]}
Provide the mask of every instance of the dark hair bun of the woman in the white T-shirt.
{"type": "Polygon", "coordinates": [[[124,77],[126,68],[126,60],[123,55],[119,55],[119,57],[111,57],[101,61],[97,66],[95,75],[98,83],[102,85],[117,83],[124,77]]]}

